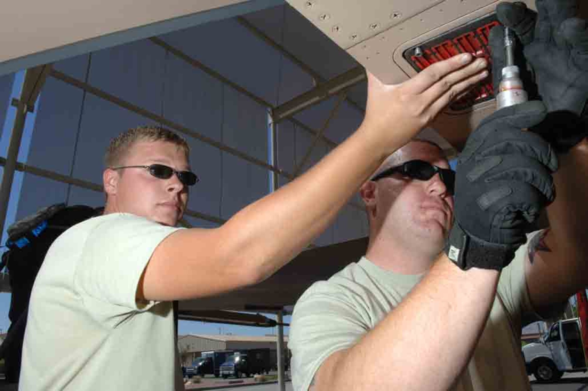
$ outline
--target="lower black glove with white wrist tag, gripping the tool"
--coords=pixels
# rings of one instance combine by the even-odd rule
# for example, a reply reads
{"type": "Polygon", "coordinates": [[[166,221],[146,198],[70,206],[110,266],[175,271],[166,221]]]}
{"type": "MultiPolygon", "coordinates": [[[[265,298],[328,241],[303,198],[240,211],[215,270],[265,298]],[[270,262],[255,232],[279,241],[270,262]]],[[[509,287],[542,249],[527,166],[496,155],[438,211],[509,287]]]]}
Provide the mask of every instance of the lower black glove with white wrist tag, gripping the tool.
{"type": "Polygon", "coordinates": [[[457,160],[455,221],[445,247],[462,269],[507,266],[553,201],[556,154],[539,135],[522,131],[545,115],[539,101],[506,107],[467,139],[457,160]]]}

